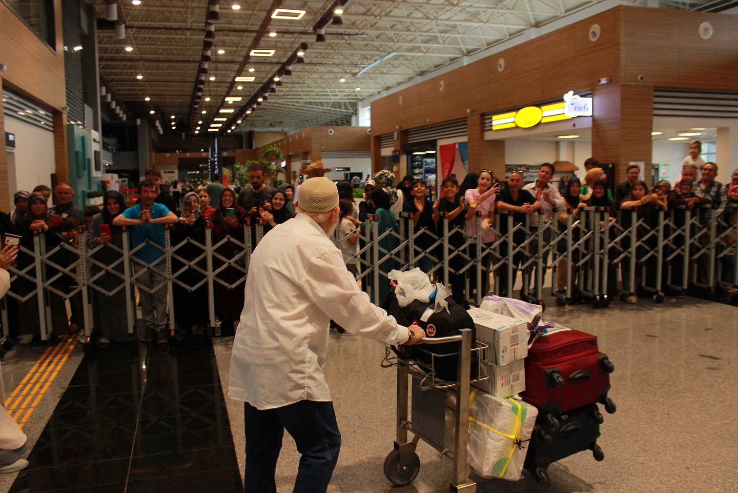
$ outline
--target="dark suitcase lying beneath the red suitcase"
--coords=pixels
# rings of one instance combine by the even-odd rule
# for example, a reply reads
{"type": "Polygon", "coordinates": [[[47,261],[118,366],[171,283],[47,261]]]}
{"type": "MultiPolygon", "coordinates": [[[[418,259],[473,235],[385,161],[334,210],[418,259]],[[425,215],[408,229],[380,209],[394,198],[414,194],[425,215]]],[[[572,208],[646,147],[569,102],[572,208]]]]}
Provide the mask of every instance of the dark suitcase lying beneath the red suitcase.
{"type": "Polygon", "coordinates": [[[536,424],[528,445],[523,467],[532,472],[539,484],[547,480],[545,471],[556,460],[591,450],[595,460],[604,460],[604,452],[597,444],[599,426],[604,421],[597,404],[571,409],[557,415],[559,429],[551,432],[545,424],[536,424]]]}

